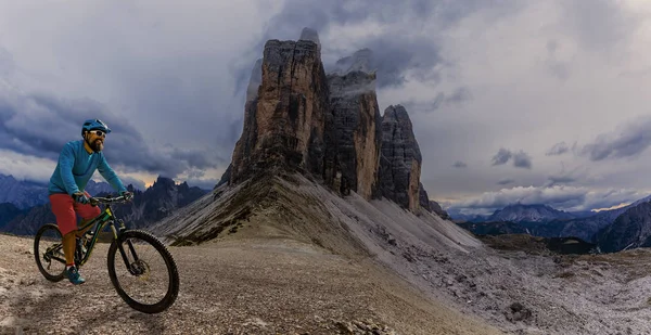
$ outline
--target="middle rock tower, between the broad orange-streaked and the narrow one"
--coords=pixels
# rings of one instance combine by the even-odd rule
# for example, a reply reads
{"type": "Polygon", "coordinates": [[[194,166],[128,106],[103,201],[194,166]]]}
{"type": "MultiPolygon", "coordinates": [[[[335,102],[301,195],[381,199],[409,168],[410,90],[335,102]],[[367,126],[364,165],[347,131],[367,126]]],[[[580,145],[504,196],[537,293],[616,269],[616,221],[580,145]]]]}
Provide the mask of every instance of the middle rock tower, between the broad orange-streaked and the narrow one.
{"type": "Polygon", "coordinates": [[[370,199],[376,192],[382,129],[374,74],[329,75],[324,179],[335,191],[370,199]]]}

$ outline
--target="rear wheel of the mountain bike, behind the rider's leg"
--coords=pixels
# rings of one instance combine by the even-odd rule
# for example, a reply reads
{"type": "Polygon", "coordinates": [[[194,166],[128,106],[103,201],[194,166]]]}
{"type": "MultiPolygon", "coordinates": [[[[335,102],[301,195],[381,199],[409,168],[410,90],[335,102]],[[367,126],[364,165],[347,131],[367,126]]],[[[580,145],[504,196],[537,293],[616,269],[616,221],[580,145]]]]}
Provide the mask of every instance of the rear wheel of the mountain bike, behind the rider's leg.
{"type": "Polygon", "coordinates": [[[53,223],[43,224],[34,237],[34,258],[38,270],[51,282],[63,280],[65,257],[62,246],[63,236],[59,227],[53,223]]]}

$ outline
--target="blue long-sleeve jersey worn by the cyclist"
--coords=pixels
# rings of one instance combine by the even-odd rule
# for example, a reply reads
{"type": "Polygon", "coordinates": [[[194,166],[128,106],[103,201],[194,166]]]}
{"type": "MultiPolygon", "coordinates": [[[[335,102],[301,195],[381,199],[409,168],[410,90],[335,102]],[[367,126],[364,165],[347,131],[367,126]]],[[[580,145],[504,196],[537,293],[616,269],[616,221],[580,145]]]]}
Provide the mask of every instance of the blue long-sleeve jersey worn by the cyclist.
{"type": "Polygon", "coordinates": [[[89,154],[84,147],[84,140],[79,140],[67,142],[63,146],[56,168],[50,178],[48,192],[50,194],[67,193],[69,195],[82,192],[95,170],[100,171],[100,175],[117,192],[127,191],[115,171],[106,163],[104,154],[102,152],[89,154]]]}

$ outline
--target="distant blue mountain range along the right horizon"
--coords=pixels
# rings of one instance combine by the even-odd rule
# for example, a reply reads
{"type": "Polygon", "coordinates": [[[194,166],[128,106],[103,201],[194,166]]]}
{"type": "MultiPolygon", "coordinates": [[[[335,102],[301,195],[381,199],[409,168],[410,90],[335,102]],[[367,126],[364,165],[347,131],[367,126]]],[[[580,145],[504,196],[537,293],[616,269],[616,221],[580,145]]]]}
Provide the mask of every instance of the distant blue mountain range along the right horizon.
{"type": "Polygon", "coordinates": [[[567,212],[547,205],[510,205],[488,217],[455,217],[475,234],[531,234],[544,237],[578,237],[604,252],[651,246],[651,196],[628,206],[599,212],[567,212]]]}

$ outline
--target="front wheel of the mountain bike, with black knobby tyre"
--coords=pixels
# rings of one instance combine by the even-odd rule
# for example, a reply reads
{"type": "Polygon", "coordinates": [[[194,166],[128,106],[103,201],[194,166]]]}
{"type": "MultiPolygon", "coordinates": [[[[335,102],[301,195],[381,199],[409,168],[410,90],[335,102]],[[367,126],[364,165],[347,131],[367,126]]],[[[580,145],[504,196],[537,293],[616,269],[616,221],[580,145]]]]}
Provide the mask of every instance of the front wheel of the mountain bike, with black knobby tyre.
{"type": "Polygon", "coordinates": [[[179,293],[179,273],[171,254],[149,232],[129,230],[108,248],[108,276],[131,308],[159,313],[179,293]]]}

